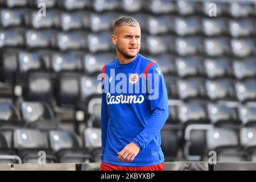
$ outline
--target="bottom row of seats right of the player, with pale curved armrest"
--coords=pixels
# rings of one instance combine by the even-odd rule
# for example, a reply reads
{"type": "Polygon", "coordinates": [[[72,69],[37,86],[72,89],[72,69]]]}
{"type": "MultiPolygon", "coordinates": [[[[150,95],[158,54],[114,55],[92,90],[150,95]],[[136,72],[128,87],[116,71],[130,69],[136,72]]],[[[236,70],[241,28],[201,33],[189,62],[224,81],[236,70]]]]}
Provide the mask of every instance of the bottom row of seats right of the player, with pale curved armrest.
{"type": "MultiPolygon", "coordinates": [[[[167,125],[168,126],[168,125],[167,125]]],[[[210,151],[221,162],[255,161],[256,128],[188,125],[185,130],[165,126],[162,130],[162,150],[167,161],[179,160],[179,150],[187,160],[208,161],[210,151]],[[170,129],[172,128],[172,129],[170,129]]]]}

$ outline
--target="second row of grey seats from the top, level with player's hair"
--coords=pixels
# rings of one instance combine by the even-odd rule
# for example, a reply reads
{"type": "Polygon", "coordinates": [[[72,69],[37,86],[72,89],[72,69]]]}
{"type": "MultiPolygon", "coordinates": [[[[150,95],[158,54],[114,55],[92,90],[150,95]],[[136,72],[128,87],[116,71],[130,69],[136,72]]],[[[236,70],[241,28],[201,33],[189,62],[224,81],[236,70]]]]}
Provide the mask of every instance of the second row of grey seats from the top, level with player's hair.
{"type": "MultiPolygon", "coordinates": [[[[69,11],[47,10],[47,16],[39,16],[30,9],[0,9],[0,24],[5,27],[27,27],[36,30],[84,30],[91,32],[111,31],[113,21],[121,16],[117,13],[93,14],[90,11],[69,13],[69,11]]],[[[143,32],[150,35],[174,34],[179,36],[232,36],[234,38],[255,36],[253,18],[209,18],[204,16],[180,17],[175,15],[152,16],[133,14],[140,22],[143,32]]]]}

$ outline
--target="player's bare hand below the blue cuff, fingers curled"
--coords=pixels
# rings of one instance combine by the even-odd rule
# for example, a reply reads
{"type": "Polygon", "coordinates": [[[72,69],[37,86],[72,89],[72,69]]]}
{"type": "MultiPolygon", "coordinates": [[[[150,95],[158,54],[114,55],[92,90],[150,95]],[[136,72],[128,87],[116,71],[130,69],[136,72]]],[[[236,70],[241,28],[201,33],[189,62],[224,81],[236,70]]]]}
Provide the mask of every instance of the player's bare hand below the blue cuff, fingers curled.
{"type": "Polygon", "coordinates": [[[118,154],[117,160],[120,160],[122,162],[123,160],[125,162],[132,162],[138,153],[139,153],[139,147],[135,143],[131,142],[127,144],[127,146],[125,146],[125,148],[123,148],[121,152],[117,153],[118,154]]]}

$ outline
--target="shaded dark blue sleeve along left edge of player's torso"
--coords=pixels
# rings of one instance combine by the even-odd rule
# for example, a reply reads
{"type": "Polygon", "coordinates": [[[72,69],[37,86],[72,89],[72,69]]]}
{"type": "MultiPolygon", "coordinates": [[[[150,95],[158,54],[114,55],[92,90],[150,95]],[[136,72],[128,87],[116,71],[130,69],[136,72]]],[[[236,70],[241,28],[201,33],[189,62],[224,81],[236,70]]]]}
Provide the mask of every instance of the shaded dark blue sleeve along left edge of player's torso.
{"type": "Polygon", "coordinates": [[[106,138],[107,138],[107,130],[108,130],[108,107],[106,104],[106,94],[102,93],[102,100],[101,100],[101,160],[105,154],[106,148],[106,138]]]}

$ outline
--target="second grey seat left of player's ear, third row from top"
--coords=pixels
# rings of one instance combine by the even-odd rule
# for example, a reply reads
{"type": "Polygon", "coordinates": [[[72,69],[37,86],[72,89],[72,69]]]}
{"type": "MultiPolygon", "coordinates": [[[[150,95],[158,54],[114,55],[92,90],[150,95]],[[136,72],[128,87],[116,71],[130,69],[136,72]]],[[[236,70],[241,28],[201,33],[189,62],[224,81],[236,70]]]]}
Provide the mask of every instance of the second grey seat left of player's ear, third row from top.
{"type": "Polygon", "coordinates": [[[87,49],[86,32],[59,32],[57,34],[57,47],[61,51],[68,49],[87,49]]]}

